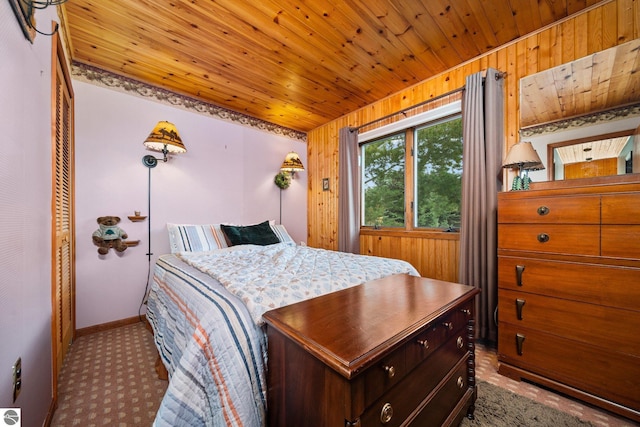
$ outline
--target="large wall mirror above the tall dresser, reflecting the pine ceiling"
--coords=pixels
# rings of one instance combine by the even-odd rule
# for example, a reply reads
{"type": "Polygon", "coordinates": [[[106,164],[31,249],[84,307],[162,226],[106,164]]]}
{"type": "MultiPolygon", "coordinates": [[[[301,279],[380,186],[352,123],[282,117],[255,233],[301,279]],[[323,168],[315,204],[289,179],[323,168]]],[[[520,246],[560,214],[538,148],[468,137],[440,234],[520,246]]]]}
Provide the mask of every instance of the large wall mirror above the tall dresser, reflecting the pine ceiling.
{"type": "Polygon", "coordinates": [[[520,140],[546,167],[533,182],[640,172],[638,51],[640,39],[520,79],[520,140]]]}

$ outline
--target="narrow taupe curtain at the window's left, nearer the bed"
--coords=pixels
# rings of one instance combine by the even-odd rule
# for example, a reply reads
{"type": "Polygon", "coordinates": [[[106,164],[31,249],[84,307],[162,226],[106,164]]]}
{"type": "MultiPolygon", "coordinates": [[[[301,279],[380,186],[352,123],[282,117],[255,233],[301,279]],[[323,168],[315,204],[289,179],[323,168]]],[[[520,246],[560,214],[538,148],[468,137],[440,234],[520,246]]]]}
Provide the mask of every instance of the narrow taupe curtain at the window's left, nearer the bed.
{"type": "Polygon", "coordinates": [[[338,146],[338,250],[360,253],[358,130],[340,129],[338,146]]]}

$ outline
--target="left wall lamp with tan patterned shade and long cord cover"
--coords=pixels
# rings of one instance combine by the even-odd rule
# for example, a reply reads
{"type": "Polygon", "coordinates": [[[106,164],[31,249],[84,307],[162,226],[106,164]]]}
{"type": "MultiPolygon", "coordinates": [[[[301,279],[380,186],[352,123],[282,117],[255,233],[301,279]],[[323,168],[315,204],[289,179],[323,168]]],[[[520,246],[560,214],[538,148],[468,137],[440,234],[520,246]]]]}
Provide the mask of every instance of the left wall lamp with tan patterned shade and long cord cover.
{"type": "Polygon", "coordinates": [[[144,146],[147,147],[148,150],[159,151],[163,155],[161,159],[150,154],[142,158],[142,164],[149,169],[147,186],[147,238],[149,241],[149,250],[147,256],[149,257],[149,263],[151,263],[151,255],[153,255],[151,253],[151,169],[158,165],[159,160],[166,162],[168,160],[167,154],[186,153],[187,149],[184,147],[175,125],[165,121],[158,122],[147,139],[145,139],[144,146]]]}

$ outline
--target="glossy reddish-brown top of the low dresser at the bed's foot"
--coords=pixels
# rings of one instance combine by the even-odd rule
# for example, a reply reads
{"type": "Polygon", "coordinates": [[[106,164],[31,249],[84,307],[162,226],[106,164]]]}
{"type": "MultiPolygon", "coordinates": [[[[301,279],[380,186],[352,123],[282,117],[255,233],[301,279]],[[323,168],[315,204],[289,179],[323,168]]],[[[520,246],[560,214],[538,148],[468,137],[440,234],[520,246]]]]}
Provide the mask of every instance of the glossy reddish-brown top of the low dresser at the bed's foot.
{"type": "Polygon", "coordinates": [[[394,275],[268,311],[275,328],[347,378],[480,291],[394,275]]]}

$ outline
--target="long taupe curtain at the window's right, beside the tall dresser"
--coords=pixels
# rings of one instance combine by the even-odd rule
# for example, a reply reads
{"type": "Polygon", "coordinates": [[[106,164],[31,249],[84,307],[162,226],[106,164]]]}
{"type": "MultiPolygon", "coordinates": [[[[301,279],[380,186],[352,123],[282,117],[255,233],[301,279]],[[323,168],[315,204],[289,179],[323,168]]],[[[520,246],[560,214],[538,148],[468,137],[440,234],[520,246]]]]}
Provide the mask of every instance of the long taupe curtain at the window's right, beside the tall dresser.
{"type": "Polygon", "coordinates": [[[461,283],[482,292],[476,304],[478,338],[497,341],[497,195],[502,188],[504,93],[494,69],[467,76],[462,103],[463,170],[460,229],[461,283]]]}

